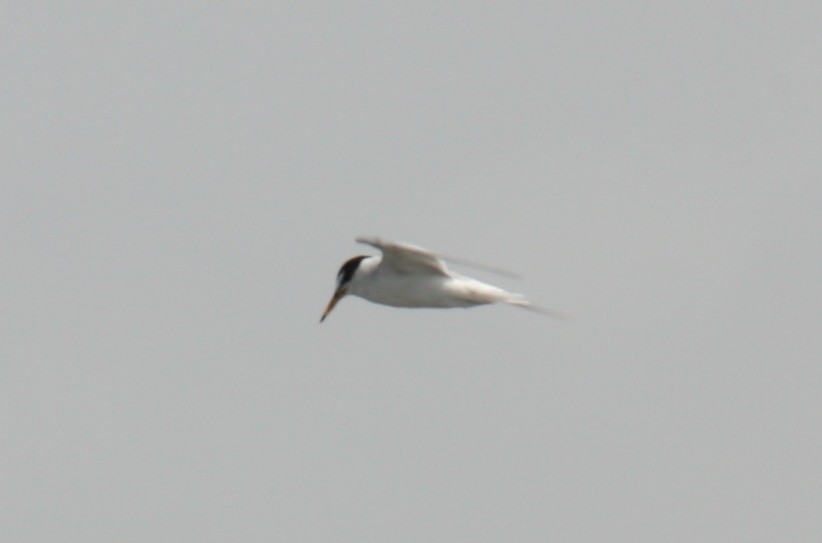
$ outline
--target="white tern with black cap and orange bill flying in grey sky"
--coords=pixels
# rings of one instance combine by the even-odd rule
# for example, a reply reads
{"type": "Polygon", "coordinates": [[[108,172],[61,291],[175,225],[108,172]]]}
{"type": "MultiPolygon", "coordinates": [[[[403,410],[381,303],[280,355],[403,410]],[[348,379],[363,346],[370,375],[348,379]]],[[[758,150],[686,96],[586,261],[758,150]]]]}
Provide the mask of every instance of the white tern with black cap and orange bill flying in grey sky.
{"type": "MultiPolygon", "coordinates": [[[[441,257],[421,247],[378,238],[357,238],[357,243],[376,247],[382,255],[355,256],[342,265],[337,272],[334,295],[320,322],[348,294],[394,307],[449,308],[506,303],[550,314],[532,305],[522,294],[449,271],[441,257]]],[[[500,273],[493,268],[474,266],[500,273]]]]}

